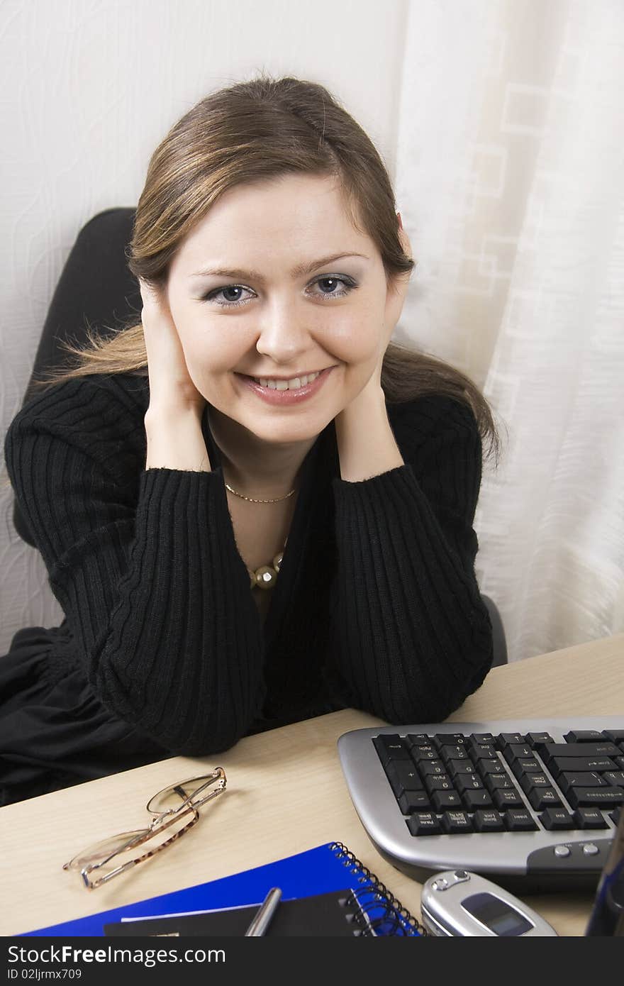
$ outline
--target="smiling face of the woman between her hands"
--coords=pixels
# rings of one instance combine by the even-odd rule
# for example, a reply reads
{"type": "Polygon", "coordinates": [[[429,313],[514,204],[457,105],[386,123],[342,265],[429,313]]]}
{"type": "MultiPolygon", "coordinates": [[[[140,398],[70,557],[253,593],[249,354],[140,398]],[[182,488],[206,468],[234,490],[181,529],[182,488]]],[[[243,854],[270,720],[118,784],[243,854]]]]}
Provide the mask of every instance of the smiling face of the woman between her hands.
{"type": "Polygon", "coordinates": [[[168,297],[195,387],[277,443],[317,435],[357,397],[398,317],[377,247],[351,225],[334,181],[309,175],[224,194],[175,254],[168,297]],[[317,262],[329,256],[339,258],[317,262]],[[328,367],[312,396],[287,405],[244,381],[328,367]]]}

